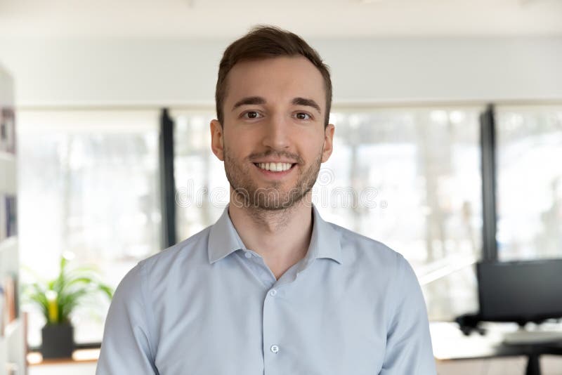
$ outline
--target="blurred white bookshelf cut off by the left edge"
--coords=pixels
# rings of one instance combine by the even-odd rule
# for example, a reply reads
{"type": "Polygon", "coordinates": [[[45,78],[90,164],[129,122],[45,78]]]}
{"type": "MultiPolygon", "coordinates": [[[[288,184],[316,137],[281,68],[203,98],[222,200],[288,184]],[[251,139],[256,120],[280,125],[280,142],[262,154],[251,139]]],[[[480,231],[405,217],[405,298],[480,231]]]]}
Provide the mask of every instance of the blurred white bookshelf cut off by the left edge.
{"type": "Polygon", "coordinates": [[[17,183],[13,80],[0,67],[0,375],[25,375],[18,301],[17,183]]]}

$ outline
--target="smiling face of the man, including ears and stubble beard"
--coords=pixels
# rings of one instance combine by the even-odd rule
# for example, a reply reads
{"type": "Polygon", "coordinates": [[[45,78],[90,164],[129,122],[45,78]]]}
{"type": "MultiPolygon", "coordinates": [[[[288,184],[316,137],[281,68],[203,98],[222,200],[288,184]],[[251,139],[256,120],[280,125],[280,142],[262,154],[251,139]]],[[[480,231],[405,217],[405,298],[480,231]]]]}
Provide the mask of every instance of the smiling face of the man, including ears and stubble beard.
{"type": "Polygon", "coordinates": [[[240,62],[227,76],[224,124],[212,149],[237,195],[233,204],[285,209],[313,187],[332,153],[322,74],[303,57],[240,62]]]}

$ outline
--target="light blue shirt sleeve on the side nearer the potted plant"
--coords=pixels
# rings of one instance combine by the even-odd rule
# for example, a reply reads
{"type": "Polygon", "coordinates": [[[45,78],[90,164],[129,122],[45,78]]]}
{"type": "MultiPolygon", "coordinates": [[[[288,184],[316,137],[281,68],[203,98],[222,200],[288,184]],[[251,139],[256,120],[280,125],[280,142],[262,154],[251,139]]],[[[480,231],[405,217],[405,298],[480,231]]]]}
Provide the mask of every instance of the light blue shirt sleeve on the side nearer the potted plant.
{"type": "Polygon", "coordinates": [[[150,350],[142,263],[119,283],[113,296],[101,343],[96,375],[157,375],[150,350]]]}

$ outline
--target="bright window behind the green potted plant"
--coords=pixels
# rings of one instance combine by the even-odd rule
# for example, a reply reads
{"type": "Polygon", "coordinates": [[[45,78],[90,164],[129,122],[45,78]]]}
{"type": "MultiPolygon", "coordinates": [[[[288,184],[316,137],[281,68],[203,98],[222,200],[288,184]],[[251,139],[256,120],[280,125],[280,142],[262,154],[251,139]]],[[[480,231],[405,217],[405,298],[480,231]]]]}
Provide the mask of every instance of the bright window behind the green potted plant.
{"type": "MultiPolygon", "coordinates": [[[[73,263],[96,266],[116,287],[139,260],[159,251],[158,116],[18,113],[22,265],[52,277],[60,254],[71,251],[73,263]]],[[[77,310],[78,343],[101,341],[108,305],[100,301],[77,310]]],[[[39,313],[30,315],[31,346],[39,345],[43,324],[39,313]]]]}

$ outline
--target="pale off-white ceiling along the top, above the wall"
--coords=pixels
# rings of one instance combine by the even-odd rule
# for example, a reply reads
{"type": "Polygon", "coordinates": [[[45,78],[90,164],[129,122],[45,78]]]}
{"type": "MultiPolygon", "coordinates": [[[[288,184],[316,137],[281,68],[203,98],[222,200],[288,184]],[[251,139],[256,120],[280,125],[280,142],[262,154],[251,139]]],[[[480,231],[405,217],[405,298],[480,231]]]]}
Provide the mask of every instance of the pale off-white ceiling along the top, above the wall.
{"type": "Polygon", "coordinates": [[[0,0],[0,38],[562,35],[562,0],[0,0]]]}

